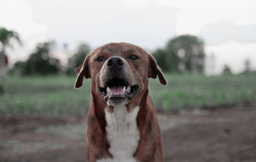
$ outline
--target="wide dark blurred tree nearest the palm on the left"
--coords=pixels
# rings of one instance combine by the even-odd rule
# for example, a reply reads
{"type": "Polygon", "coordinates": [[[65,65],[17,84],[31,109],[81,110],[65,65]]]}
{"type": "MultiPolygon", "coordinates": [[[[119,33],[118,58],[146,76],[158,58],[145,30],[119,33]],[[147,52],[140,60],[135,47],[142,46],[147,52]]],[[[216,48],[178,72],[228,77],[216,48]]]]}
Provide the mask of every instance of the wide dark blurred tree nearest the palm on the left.
{"type": "Polygon", "coordinates": [[[25,62],[14,65],[14,71],[19,70],[21,75],[47,75],[56,74],[61,71],[60,60],[51,57],[54,41],[38,43],[36,50],[25,62]]]}

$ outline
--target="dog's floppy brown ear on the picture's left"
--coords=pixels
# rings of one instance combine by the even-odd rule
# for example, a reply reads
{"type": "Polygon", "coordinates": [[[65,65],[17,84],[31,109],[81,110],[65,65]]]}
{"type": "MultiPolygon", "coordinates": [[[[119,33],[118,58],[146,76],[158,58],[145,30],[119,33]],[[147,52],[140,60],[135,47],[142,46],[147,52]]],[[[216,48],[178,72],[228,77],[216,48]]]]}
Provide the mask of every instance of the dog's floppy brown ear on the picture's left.
{"type": "Polygon", "coordinates": [[[75,70],[78,73],[78,76],[76,78],[76,84],[75,84],[76,89],[79,89],[80,87],[82,87],[84,78],[91,77],[90,70],[89,70],[89,64],[88,64],[89,58],[90,58],[90,55],[87,55],[87,57],[84,60],[83,65],[77,67],[75,70]]]}

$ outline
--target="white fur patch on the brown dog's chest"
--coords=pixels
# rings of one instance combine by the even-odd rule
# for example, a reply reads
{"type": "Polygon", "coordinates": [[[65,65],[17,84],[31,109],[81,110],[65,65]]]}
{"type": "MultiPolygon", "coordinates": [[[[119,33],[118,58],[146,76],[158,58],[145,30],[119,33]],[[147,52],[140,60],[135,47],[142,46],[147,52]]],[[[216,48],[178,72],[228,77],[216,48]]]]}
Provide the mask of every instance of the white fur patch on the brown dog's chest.
{"type": "Polygon", "coordinates": [[[122,105],[114,107],[113,112],[106,111],[106,132],[109,142],[109,152],[113,159],[101,159],[100,161],[136,162],[133,158],[140,140],[140,131],[137,127],[136,117],[140,107],[127,112],[122,105]]]}

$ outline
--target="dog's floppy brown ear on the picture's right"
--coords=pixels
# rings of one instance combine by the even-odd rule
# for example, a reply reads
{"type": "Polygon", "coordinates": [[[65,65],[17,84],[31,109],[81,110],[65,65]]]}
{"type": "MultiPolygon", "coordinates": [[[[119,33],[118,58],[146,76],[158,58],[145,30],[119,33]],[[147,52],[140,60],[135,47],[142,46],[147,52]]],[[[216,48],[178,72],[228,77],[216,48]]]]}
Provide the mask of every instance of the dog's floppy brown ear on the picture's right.
{"type": "Polygon", "coordinates": [[[159,82],[163,85],[167,85],[163,72],[161,68],[157,65],[154,57],[150,54],[148,54],[148,57],[149,57],[148,78],[156,78],[158,76],[159,82]]]}

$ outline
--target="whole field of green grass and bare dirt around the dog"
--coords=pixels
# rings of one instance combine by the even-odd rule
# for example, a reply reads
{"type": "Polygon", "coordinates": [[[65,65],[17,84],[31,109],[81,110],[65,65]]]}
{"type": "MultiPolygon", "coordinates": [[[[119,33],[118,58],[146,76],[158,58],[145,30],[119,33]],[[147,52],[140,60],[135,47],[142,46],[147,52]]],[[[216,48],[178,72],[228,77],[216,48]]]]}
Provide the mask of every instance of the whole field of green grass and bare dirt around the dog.
{"type": "MultiPolygon", "coordinates": [[[[166,79],[167,87],[150,79],[164,161],[255,161],[256,76],[166,79]]],[[[10,95],[0,98],[0,161],[86,161],[90,80],[77,90],[75,80],[8,78],[10,95]]]]}

